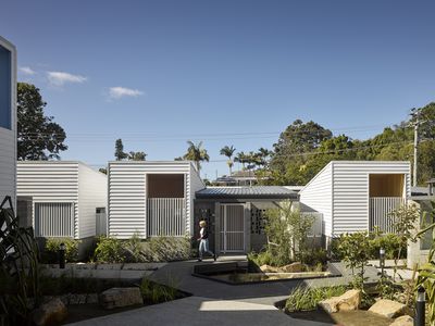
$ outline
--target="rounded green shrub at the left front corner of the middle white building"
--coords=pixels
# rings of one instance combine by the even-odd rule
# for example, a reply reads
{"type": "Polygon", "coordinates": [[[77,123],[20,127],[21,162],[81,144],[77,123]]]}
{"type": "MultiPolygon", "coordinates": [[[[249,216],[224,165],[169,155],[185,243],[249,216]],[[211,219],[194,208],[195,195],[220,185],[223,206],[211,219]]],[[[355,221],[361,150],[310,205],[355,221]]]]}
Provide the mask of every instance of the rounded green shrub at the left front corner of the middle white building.
{"type": "Polygon", "coordinates": [[[99,237],[94,259],[99,263],[123,263],[126,251],[123,241],[113,237],[99,237]]]}

